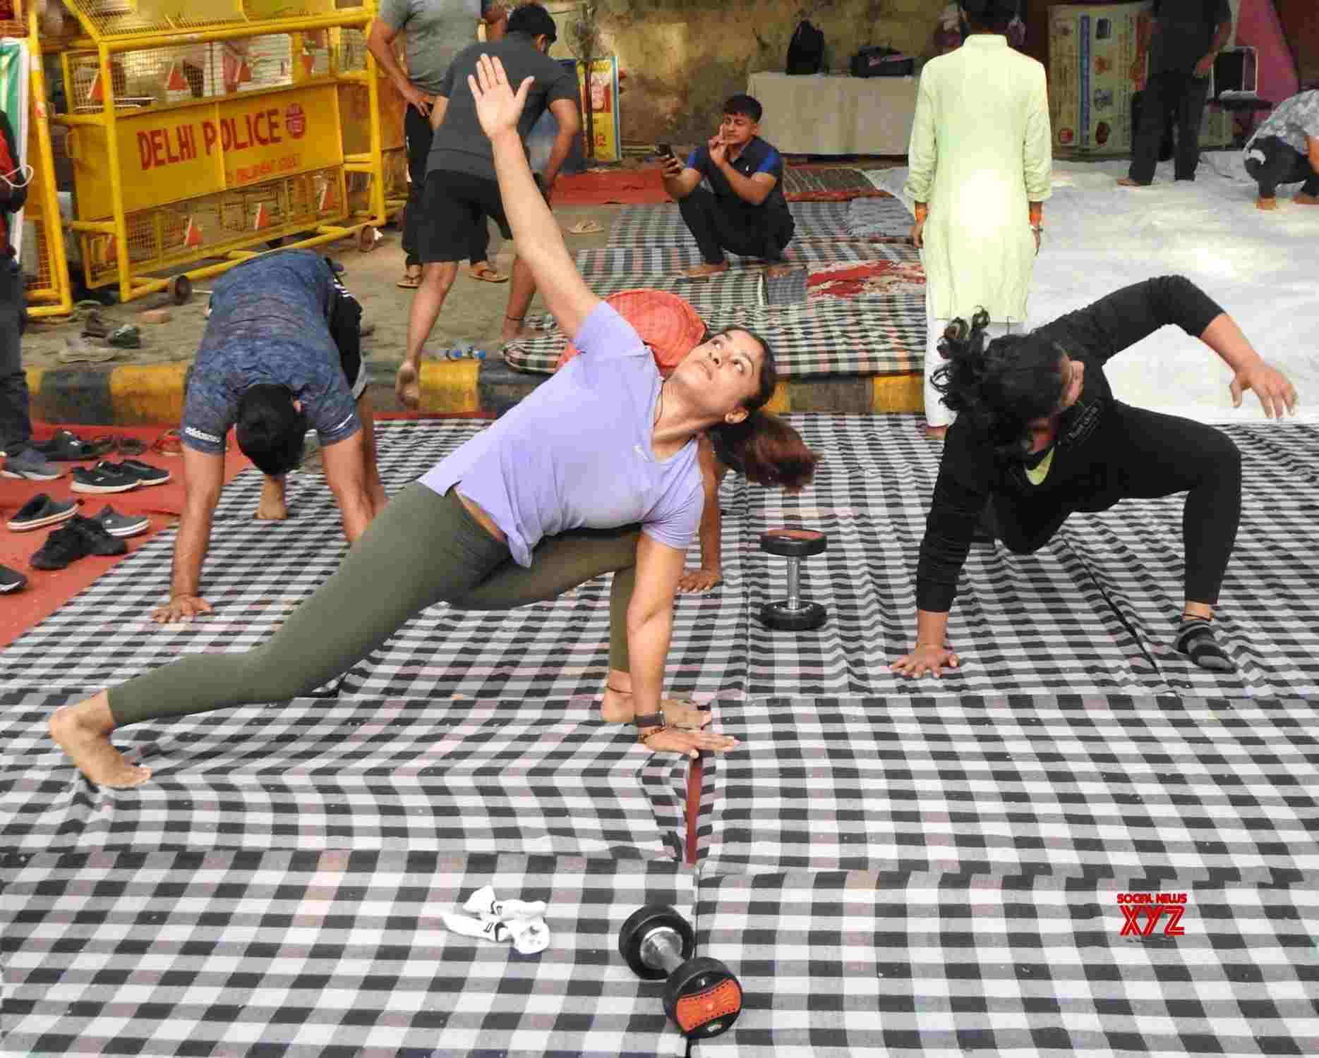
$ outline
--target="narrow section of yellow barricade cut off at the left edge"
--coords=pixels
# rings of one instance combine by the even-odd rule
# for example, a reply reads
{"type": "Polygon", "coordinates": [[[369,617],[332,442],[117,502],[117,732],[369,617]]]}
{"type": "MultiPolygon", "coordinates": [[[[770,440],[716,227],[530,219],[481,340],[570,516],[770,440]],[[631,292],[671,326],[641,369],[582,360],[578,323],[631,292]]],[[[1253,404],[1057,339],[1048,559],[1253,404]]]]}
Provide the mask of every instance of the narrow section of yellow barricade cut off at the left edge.
{"type": "MultiPolygon", "coordinates": [[[[22,209],[22,232],[12,241],[18,245],[24,270],[29,316],[61,316],[73,310],[69,291],[69,262],[65,256],[63,227],[59,217],[59,195],[55,190],[54,154],[50,146],[50,121],[46,105],[46,79],[41,66],[41,41],[37,37],[36,11],[24,12],[20,0],[9,0],[0,17],[0,62],[21,66],[4,71],[5,109],[16,136],[24,136],[24,161],[32,167],[28,199],[22,209]],[[26,86],[17,82],[26,76],[26,86]],[[26,113],[16,113],[26,96],[26,113]],[[26,121],[20,120],[26,117],[26,121]]],[[[17,150],[17,144],[11,145],[17,150]]]]}

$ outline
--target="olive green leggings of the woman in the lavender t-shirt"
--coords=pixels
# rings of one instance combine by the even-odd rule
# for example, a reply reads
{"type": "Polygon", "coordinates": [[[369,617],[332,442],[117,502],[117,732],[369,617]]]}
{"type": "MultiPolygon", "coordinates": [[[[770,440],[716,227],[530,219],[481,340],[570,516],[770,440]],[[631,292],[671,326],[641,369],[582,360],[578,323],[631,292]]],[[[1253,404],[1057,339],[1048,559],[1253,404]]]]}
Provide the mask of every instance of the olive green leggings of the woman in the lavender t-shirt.
{"type": "Polygon", "coordinates": [[[288,701],[347,672],[433,603],[509,610],[555,598],[611,572],[617,576],[609,597],[609,667],[627,672],[638,534],[638,526],[627,526],[550,536],[524,569],[452,490],[439,495],[413,484],[385,506],[338,572],[289,614],[265,646],[245,654],[191,655],[111,688],[111,714],[123,726],[288,701]]]}

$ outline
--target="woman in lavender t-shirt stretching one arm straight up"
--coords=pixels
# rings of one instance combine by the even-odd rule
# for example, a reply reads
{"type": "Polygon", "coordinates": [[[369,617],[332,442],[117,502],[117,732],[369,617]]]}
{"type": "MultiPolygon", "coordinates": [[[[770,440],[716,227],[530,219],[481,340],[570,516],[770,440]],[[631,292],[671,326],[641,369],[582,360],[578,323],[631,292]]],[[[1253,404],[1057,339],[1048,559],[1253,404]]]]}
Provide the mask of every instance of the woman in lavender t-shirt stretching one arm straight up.
{"type": "Polygon", "coordinates": [[[719,433],[765,485],[801,487],[815,460],[798,445],[777,455],[760,411],[774,361],[754,335],[715,335],[661,378],[636,331],[587,289],[517,136],[528,84],[514,96],[499,61],[483,57],[472,88],[518,253],[582,356],[394,497],[264,646],[193,655],[59,709],[51,735],[92,783],[135,787],[150,775],[111,746],[116,727],[307,694],[435,602],[521,606],[607,572],[605,719],[633,719],[650,750],[695,756],[735,744],[674,726],[703,718],[661,701],[674,592],[702,514],[696,439],[719,433]]]}

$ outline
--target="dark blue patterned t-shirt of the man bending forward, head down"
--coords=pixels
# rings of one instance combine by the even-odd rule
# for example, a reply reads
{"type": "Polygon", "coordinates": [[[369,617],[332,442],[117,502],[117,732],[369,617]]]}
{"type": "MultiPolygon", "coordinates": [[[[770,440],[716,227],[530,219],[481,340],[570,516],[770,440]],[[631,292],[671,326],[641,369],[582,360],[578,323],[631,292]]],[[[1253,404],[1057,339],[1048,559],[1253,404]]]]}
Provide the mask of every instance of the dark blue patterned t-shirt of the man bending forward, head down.
{"type": "Polygon", "coordinates": [[[360,311],[347,328],[334,327],[347,302],[330,262],[311,250],[262,254],[220,277],[183,399],[183,444],[223,453],[239,399],[262,385],[291,390],[322,444],[361,430],[348,378],[360,366],[360,311]],[[344,329],[353,333],[336,341],[344,329]]]}

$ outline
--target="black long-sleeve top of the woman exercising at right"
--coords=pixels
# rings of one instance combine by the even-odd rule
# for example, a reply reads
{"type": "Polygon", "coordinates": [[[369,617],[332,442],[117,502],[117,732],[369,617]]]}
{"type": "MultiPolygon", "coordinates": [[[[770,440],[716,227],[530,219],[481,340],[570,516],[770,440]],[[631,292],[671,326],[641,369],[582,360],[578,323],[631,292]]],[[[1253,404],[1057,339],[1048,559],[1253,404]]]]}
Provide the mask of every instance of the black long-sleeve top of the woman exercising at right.
{"type": "Polygon", "coordinates": [[[997,456],[989,439],[959,416],[948,430],[926,516],[917,565],[917,607],[946,613],[952,606],[976,519],[992,494],[1029,497],[1059,507],[1089,498],[1096,482],[1105,477],[1096,470],[1108,460],[1111,431],[1124,428],[1124,404],[1113,399],[1103,372],[1111,357],[1165,324],[1177,324],[1199,337],[1221,312],[1190,279],[1161,275],[1122,287],[1035,331],[1086,365],[1082,397],[1063,412],[1058,426],[1049,476],[1031,485],[1022,462],[997,456]]]}

